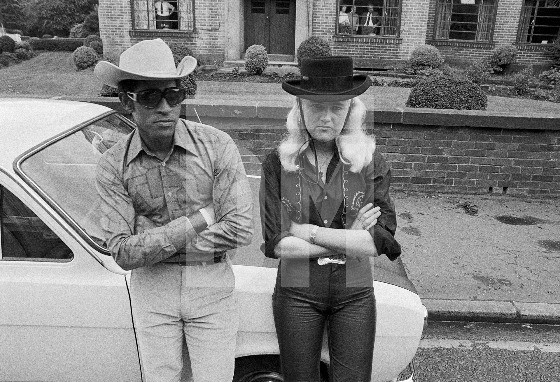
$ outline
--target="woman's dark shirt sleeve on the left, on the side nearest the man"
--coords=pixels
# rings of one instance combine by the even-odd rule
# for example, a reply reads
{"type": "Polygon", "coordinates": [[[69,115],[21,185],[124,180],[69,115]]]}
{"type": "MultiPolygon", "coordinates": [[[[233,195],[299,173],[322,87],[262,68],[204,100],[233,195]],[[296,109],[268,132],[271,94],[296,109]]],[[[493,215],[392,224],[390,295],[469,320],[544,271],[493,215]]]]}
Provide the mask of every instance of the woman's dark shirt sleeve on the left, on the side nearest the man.
{"type": "Polygon", "coordinates": [[[260,177],[259,205],[264,243],[260,246],[264,256],[279,258],[274,247],[290,233],[290,216],[282,206],[280,191],[281,165],[276,155],[269,155],[263,162],[260,177]]]}

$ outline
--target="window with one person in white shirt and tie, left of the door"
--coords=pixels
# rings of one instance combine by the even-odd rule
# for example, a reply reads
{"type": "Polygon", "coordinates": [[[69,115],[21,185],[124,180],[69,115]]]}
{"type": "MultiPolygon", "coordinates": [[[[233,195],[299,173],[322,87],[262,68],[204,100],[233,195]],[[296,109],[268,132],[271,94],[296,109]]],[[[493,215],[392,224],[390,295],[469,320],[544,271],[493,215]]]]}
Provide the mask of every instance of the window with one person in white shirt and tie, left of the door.
{"type": "Polygon", "coordinates": [[[194,0],[132,0],[134,30],[194,31],[194,0]]]}

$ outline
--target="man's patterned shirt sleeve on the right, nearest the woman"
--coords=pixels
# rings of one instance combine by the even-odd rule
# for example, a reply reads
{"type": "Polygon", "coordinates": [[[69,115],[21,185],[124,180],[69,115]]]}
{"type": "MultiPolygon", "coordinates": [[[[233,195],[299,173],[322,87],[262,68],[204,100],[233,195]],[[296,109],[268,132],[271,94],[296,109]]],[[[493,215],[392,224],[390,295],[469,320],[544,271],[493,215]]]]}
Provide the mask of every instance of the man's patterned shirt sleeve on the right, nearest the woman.
{"type": "Polygon", "coordinates": [[[253,239],[253,194],[237,145],[223,133],[214,163],[212,187],[217,223],[185,245],[185,252],[220,253],[253,239]]]}

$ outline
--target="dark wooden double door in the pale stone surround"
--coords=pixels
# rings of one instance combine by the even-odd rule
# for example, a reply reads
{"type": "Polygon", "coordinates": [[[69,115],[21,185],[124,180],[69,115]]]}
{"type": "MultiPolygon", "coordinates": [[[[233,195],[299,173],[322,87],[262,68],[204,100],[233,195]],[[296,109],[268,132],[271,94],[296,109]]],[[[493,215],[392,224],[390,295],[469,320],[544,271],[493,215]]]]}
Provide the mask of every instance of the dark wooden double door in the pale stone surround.
{"type": "Polygon", "coordinates": [[[293,54],[296,0],[245,0],[245,50],[263,45],[268,54],[293,54]]]}

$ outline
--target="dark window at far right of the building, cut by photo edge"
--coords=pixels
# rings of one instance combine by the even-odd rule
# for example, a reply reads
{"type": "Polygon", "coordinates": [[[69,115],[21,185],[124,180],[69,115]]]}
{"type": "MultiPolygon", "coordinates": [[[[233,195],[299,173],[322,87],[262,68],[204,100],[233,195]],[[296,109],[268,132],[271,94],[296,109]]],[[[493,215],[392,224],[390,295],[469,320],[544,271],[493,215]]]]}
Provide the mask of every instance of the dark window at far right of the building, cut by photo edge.
{"type": "Polygon", "coordinates": [[[520,43],[552,44],[560,34],[560,0],[525,0],[519,22],[520,43]]]}

